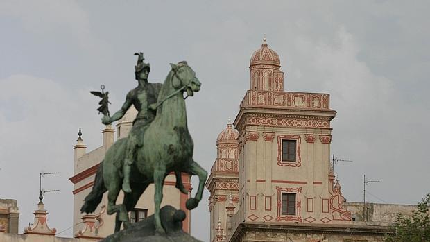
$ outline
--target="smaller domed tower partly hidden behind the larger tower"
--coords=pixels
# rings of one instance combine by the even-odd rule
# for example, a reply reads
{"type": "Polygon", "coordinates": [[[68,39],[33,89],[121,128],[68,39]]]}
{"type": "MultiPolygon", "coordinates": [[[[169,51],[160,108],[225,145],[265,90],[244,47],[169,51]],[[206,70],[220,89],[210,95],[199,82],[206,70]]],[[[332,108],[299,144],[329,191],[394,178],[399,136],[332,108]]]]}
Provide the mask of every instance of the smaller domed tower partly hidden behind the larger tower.
{"type": "Polygon", "coordinates": [[[211,193],[209,197],[211,242],[221,241],[223,228],[227,224],[226,207],[229,207],[229,202],[236,203],[239,200],[238,137],[239,132],[233,129],[229,120],[227,128],[216,139],[216,159],[206,182],[206,187],[211,193]]]}

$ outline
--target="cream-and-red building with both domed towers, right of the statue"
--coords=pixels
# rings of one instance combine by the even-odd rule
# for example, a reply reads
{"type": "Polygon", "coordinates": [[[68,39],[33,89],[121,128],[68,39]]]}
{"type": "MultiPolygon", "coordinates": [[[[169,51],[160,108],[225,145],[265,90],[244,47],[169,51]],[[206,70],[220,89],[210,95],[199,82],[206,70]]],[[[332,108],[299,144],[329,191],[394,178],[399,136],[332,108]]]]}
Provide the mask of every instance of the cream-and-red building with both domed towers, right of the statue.
{"type": "Polygon", "coordinates": [[[354,221],[335,180],[329,94],[285,92],[280,67],[264,38],[237,131],[229,123],[217,139],[210,241],[381,241],[387,227],[354,221]]]}

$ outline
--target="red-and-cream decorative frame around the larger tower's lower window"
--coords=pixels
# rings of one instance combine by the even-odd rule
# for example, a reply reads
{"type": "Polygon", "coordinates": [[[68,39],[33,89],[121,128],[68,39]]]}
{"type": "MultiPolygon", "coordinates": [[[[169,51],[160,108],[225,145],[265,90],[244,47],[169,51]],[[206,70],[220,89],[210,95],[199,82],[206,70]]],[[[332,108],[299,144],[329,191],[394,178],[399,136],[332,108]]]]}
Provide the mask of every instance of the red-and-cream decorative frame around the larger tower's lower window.
{"type": "Polygon", "coordinates": [[[276,221],[298,221],[302,222],[301,217],[301,202],[300,202],[300,193],[302,193],[302,187],[292,188],[292,187],[278,187],[276,186],[277,191],[277,217],[276,221]],[[282,192],[286,193],[295,193],[295,211],[296,215],[286,215],[282,214],[282,192]]]}

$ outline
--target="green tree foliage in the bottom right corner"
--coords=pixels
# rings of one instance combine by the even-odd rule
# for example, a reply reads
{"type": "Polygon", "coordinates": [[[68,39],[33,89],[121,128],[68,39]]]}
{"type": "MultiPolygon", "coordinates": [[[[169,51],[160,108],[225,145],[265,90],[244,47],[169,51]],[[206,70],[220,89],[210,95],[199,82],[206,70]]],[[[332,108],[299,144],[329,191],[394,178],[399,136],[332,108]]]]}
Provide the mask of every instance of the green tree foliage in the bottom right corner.
{"type": "Polygon", "coordinates": [[[386,242],[430,242],[430,193],[417,207],[412,216],[397,214],[394,233],[386,235],[386,242]]]}

